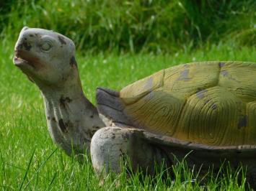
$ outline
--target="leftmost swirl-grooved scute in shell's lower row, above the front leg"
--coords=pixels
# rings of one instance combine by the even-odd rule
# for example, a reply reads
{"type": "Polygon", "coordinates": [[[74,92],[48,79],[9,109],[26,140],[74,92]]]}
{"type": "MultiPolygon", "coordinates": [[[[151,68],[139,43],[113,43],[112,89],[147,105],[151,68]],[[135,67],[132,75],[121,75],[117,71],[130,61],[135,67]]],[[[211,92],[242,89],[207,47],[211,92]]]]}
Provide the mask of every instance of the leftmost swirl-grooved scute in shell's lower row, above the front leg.
{"type": "MultiPolygon", "coordinates": [[[[138,102],[126,106],[123,112],[128,114],[132,112],[131,116],[138,122],[139,128],[149,128],[153,132],[167,134],[167,126],[177,126],[184,104],[185,98],[180,98],[180,94],[159,88],[151,91],[138,102]]],[[[172,131],[172,129],[168,130],[172,131]]]]}

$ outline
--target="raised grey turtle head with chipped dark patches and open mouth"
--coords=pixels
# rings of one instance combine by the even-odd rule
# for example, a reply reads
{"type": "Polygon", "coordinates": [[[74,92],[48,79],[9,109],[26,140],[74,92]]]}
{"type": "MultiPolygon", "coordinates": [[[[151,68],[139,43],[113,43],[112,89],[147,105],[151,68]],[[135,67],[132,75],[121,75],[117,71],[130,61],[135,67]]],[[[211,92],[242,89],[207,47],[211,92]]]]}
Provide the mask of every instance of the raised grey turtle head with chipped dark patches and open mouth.
{"type": "Polygon", "coordinates": [[[24,27],[14,52],[14,65],[39,87],[78,77],[74,42],[57,32],[24,27]]]}

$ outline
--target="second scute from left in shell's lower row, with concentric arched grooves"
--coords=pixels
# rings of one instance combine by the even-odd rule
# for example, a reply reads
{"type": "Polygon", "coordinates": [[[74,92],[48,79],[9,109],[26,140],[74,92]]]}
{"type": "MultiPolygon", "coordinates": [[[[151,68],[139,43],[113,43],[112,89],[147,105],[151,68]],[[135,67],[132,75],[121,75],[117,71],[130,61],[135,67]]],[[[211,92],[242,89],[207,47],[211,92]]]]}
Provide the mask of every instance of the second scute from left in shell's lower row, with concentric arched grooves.
{"type": "Polygon", "coordinates": [[[219,86],[208,88],[203,97],[193,94],[187,99],[175,136],[208,145],[241,143],[243,137],[237,134],[243,129],[237,124],[245,111],[246,105],[233,93],[219,86]]]}

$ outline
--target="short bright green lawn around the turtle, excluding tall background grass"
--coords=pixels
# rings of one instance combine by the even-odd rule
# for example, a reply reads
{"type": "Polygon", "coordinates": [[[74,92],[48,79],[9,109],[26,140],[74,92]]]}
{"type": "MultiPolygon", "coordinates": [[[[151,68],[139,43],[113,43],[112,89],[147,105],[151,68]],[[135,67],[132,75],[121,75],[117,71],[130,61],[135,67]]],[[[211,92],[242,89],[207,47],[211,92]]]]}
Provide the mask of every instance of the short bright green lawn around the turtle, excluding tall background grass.
{"type": "MultiPolygon", "coordinates": [[[[244,179],[227,172],[219,177],[211,171],[203,183],[193,182],[197,174],[184,163],[175,169],[175,180],[132,178],[110,174],[104,185],[94,174],[90,159],[84,164],[67,157],[50,139],[43,100],[34,84],[12,65],[14,45],[0,45],[0,187],[1,190],[245,190],[244,179]],[[182,177],[184,174],[185,177],[182,177]]],[[[255,47],[235,44],[205,45],[198,50],[184,48],[172,55],[99,54],[78,52],[79,72],[87,97],[93,103],[97,86],[116,90],[151,73],[185,62],[201,60],[242,60],[255,62],[255,47]]],[[[243,174],[243,173],[242,173],[243,174]]]]}

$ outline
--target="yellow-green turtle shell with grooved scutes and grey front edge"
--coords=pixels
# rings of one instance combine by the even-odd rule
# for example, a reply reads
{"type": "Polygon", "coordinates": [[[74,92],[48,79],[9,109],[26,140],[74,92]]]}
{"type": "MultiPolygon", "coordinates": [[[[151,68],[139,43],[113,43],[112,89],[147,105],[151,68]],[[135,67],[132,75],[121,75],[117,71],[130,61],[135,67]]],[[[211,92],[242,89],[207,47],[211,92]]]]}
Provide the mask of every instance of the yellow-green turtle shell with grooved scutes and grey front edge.
{"type": "Polygon", "coordinates": [[[256,144],[256,64],[194,62],[160,70],[120,93],[99,88],[116,124],[209,146],[256,144]]]}

